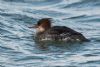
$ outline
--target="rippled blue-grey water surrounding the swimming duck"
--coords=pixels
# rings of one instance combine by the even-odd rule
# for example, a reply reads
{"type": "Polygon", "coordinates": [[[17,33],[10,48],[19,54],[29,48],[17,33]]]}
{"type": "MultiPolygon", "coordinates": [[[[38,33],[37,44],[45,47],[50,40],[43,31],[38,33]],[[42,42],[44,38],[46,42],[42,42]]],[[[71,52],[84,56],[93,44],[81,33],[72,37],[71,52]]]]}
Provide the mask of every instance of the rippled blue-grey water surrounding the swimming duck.
{"type": "Polygon", "coordinates": [[[0,0],[0,67],[100,67],[100,0],[0,0]],[[90,42],[36,43],[28,27],[53,18],[90,42]]]}

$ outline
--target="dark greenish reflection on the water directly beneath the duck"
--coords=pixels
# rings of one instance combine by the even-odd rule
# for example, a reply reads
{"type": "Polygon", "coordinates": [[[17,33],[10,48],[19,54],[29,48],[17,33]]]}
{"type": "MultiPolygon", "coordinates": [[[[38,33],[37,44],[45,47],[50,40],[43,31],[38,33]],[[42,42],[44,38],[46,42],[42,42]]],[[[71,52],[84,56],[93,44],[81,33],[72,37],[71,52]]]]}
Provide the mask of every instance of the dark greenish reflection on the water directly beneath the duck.
{"type": "Polygon", "coordinates": [[[39,50],[50,52],[63,52],[63,51],[78,51],[85,46],[84,43],[68,43],[68,42],[35,42],[39,50]],[[80,45],[81,44],[81,45],[80,45]]]}

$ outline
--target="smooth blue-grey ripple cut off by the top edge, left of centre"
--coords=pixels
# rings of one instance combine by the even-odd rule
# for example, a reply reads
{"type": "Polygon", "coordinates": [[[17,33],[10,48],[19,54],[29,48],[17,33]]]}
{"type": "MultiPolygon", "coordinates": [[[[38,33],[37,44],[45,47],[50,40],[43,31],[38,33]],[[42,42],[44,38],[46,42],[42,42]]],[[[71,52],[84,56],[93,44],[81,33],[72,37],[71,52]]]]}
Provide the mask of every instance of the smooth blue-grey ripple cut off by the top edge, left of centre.
{"type": "Polygon", "coordinates": [[[44,6],[59,3],[63,0],[3,0],[5,2],[30,3],[34,6],[44,6]]]}

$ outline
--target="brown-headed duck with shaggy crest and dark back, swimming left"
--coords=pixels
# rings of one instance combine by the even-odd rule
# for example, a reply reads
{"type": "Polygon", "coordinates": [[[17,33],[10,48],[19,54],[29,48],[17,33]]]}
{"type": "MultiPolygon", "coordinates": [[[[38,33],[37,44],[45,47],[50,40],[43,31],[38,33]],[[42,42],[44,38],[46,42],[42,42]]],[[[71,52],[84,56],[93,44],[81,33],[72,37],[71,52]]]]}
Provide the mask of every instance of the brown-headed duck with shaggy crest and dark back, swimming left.
{"type": "Polygon", "coordinates": [[[43,18],[33,26],[37,30],[36,39],[39,41],[87,41],[81,33],[66,26],[52,26],[50,18],[43,18]]]}

